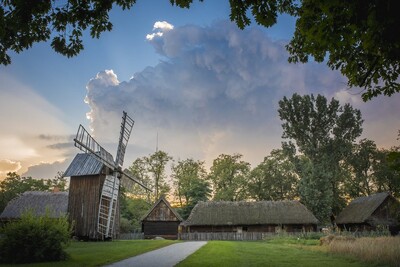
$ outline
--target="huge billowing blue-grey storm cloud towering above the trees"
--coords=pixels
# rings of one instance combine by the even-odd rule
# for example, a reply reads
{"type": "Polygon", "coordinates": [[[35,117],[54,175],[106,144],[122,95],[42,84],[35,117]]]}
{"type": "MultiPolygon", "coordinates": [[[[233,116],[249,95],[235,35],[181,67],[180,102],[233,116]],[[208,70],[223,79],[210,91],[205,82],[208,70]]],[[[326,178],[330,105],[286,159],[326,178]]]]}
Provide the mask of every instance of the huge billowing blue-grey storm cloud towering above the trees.
{"type": "Polygon", "coordinates": [[[122,110],[135,119],[132,157],[154,152],[158,133],[159,148],[174,157],[210,162],[221,153],[241,153],[258,164],[280,147],[283,96],[319,93],[357,102],[346,95],[340,73],[315,62],[289,64],[285,44],[261,28],[219,22],[170,27],[147,39],[163,61],[129,81],[106,70],[87,85],[96,138],[117,142],[122,110]]]}

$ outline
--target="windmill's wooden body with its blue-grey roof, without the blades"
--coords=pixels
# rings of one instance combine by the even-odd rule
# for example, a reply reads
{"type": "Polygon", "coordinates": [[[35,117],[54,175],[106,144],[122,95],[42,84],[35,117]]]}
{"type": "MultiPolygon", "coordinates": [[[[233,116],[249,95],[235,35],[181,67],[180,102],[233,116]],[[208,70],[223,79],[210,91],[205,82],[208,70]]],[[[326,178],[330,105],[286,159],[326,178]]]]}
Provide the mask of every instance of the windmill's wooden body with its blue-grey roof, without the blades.
{"type": "MultiPolygon", "coordinates": [[[[67,170],[65,177],[71,177],[69,185],[68,214],[74,223],[74,236],[79,239],[100,240],[103,236],[98,231],[99,203],[104,181],[112,171],[90,154],[77,154],[67,170]]],[[[113,238],[119,235],[119,201],[113,238]]]]}

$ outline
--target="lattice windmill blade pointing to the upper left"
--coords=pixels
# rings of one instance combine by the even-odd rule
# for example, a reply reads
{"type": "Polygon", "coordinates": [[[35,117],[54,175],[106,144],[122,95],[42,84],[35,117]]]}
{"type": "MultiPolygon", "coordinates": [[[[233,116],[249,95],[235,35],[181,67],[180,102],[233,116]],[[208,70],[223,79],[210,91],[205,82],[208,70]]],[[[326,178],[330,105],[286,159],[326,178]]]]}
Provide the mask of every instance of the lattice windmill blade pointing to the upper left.
{"type": "Polygon", "coordinates": [[[115,169],[113,156],[105,150],[94,138],[86,131],[86,129],[79,125],[76,138],[74,139],[75,146],[85,153],[90,153],[104,163],[107,167],[115,169]]]}

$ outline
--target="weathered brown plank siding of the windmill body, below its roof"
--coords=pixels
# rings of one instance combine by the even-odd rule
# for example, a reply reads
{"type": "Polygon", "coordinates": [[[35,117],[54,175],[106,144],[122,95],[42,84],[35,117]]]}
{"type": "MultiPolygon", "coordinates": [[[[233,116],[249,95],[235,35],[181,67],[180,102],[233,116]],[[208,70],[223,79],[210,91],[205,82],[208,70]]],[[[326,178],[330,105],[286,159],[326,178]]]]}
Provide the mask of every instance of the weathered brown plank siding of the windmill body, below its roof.
{"type": "MultiPolygon", "coordinates": [[[[82,239],[102,239],[97,232],[101,189],[105,174],[72,176],[70,180],[68,213],[74,225],[74,235],[82,239]]],[[[119,234],[119,201],[114,237],[119,234]]]]}

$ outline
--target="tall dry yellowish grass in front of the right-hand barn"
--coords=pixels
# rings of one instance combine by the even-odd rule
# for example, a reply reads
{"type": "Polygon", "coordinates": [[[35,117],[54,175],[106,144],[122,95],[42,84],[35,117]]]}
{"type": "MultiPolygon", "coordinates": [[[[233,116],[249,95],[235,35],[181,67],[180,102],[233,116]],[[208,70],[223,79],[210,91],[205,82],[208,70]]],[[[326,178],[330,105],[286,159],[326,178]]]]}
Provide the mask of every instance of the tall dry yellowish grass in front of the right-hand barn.
{"type": "Polygon", "coordinates": [[[400,266],[400,237],[333,238],[328,250],[360,260],[400,266]]]}

